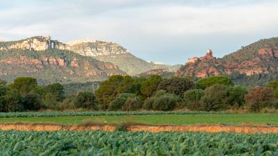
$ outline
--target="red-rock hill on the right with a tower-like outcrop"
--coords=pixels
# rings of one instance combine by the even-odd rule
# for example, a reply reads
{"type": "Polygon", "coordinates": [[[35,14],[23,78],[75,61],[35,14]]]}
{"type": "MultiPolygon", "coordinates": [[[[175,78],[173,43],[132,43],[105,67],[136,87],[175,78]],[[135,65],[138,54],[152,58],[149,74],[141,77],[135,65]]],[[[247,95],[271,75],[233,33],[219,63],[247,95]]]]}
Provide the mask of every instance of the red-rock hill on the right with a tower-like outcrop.
{"type": "Polygon", "coordinates": [[[227,75],[245,85],[265,85],[277,77],[278,37],[259,40],[223,58],[215,58],[211,50],[201,58],[190,58],[176,76],[205,78],[227,75]],[[247,82],[245,81],[247,80],[247,82]]]}

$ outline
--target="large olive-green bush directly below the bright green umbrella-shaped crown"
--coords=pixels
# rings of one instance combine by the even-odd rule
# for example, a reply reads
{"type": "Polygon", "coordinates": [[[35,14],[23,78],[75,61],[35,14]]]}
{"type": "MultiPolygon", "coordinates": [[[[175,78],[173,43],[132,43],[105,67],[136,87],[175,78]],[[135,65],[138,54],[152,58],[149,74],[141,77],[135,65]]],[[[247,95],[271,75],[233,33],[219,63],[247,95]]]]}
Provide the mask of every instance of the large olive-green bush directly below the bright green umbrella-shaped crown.
{"type": "Polygon", "coordinates": [[[219,111],[229,107],[229,88],[226,85],[215,84],[204,90],[201,98],[201,110],[219,111]]]}

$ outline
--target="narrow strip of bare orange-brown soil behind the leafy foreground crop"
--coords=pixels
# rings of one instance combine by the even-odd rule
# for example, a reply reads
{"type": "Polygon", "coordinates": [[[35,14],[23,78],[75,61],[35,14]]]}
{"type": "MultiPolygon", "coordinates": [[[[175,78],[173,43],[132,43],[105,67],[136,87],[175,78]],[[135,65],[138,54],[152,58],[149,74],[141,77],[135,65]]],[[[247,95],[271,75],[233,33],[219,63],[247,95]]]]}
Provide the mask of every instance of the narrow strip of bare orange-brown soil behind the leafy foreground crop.
{"type": "MultiPolygon", "coordinates": [[[[45,124],[0,124],[0,130],[34,130],[34,131],[57,131],[57,130],[102,130],[115,131],[115,125],[45,125],[45,124]]],[[[270,125],[130,125],[128,131],[148,131],[148,132],[236,132],[236,133],[278,133],[278,126],[270,125]]]]}

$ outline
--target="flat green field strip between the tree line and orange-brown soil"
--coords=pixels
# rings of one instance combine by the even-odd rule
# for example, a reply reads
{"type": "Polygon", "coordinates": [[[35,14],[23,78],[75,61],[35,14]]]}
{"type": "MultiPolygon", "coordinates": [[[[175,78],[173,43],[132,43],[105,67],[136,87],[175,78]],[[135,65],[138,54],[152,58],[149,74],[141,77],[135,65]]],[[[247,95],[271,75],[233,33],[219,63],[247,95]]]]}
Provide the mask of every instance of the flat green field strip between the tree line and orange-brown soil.
{"type": "Polygon", "coordinates": [[[167,125],[199,123],[278,125],[278,114],[231,114],[227,112],[41,112],[33,114],[0,113],[0,117],[0,123],[56,123],[63,125],[78,125],[84,121],[167,125]]]}

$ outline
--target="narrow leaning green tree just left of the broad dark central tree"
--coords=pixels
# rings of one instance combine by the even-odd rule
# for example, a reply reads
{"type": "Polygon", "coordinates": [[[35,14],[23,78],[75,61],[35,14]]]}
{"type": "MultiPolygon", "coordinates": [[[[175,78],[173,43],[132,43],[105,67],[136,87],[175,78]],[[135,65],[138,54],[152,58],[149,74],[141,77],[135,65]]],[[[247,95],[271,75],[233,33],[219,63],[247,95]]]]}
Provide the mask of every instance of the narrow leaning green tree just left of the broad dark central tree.
{"type": "Polygon", "coordinates": [[[161,83],[162,78],[161,76],[150,76],[142,83],[142,87],[140,89],[143,98],[151,97],[157,90],[159,83],[161,83]]]}

